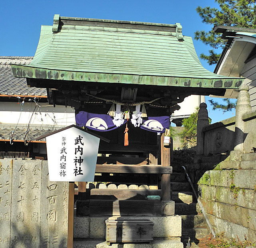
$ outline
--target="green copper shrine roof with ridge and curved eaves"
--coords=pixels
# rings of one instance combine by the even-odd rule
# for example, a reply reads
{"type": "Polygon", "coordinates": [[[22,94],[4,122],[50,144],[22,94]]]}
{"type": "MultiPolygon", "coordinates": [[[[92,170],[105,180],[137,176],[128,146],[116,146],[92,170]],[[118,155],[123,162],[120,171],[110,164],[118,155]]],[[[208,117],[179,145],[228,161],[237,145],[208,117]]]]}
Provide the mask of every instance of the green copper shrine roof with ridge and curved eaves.
{"type": "Polygon", "coordinates": [[[55,80],[238,88],[243,78],[200,64],[180,24],[54,16],[42,26],[34,59],[12,65],[14,76],[55,80]]]}

